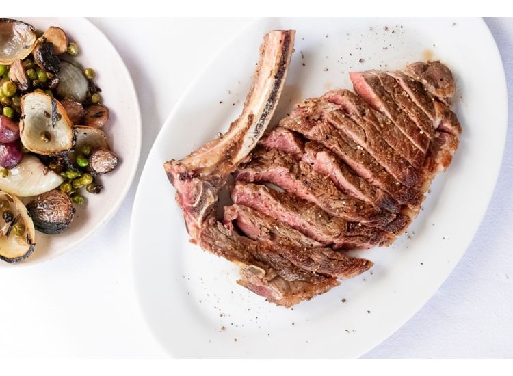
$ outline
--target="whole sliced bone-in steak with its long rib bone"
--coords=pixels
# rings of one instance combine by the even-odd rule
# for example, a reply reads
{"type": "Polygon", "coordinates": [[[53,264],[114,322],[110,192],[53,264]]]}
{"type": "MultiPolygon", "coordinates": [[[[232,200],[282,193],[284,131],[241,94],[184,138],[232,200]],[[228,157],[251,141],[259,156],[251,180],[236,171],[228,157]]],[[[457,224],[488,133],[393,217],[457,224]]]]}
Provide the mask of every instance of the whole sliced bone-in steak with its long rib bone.
{"type": "Polygon", "coordinates": [[[294,31],[264,37],[241,116],[165,164],[192,241],[241,267],[241,286],[290,307],[373,264],[345,250],[390,245],[447,169],[461,126],[440,62],[351,72],[355,92],[304,100],[264,135],[287,76],[294,31]],[[229,176],[233,204],[215,217],[229,176]],[[269,185],[272,183],[272,185],[269,185]]]}

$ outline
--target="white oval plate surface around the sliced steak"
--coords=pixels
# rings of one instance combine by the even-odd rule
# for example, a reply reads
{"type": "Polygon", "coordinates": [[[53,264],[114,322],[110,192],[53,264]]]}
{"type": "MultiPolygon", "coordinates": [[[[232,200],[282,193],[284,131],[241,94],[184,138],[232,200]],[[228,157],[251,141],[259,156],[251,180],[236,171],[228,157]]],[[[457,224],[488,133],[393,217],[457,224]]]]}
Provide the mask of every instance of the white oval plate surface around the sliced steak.
{"type": "Polygon", "coordinates": [[[137,295],[150,328],[176,357],[362,355],[417,312],[460,260],[492,195],[506,126],[503,66],[480,19],[287,18],[252,24],[176,105],[144,167],[133,209],[131,255],[137,295]],[[371,271],[293,310],[238,286],[237,267],[187,242],[174,189],[162,168],[166,160],[187,155],[237,117],[258,46],[270,29],[297,30],[276,120],[301,98],[350,88],[350,70],[441,59],[456,76],[453,108],[463,126],[452,165],[434,181],[408,234],[389,249],[365,252],[376,264],[371,271]]]}

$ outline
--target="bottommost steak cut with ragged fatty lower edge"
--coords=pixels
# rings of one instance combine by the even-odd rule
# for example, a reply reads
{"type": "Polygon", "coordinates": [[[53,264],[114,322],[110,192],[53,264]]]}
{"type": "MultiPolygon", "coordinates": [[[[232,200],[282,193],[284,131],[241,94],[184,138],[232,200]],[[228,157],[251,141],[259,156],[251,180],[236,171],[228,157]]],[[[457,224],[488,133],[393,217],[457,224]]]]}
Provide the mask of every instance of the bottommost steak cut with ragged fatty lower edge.
{"type": "Polygon", "coordinates": [[[287,301],[297,303],[298,296],[310,299],[337,286],[339,282],[334,278],[352,278],[372,266],[369,260],[348,257],[329,248],[271,246],[241,237],[213,217],[207,222],[209,226],[200,229],[199,245],[241,266],[239,284],[276,304],[289,306],[287,301]],[[302,293],[295,288],[298,286],[302,293]]]}

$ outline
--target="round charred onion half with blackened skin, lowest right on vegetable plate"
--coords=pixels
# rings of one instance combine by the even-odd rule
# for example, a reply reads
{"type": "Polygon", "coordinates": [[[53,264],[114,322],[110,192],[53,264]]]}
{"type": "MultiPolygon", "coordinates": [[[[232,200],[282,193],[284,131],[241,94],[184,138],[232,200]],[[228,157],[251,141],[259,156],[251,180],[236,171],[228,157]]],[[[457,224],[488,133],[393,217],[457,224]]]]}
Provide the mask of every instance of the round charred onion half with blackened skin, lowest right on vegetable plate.
{"type": "Polygon", "coordinates": [[[68,228],[73,221],[75,208],[70,197],[53,189],[42,193],[27,204],[34,227],[44,234],[60,234],[68,228]]]}

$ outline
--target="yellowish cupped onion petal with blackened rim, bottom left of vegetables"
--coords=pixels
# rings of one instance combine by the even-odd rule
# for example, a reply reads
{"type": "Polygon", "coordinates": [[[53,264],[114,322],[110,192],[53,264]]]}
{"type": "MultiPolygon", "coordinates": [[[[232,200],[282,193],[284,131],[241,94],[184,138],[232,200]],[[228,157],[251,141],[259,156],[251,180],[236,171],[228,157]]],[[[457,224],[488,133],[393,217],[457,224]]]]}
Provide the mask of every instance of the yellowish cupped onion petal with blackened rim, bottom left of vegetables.
{"type": "Polygon", "coordinates": [[[0,260],[18,263],[34,252],[36,231],[25,205],[0,191],[0,260]]]}

